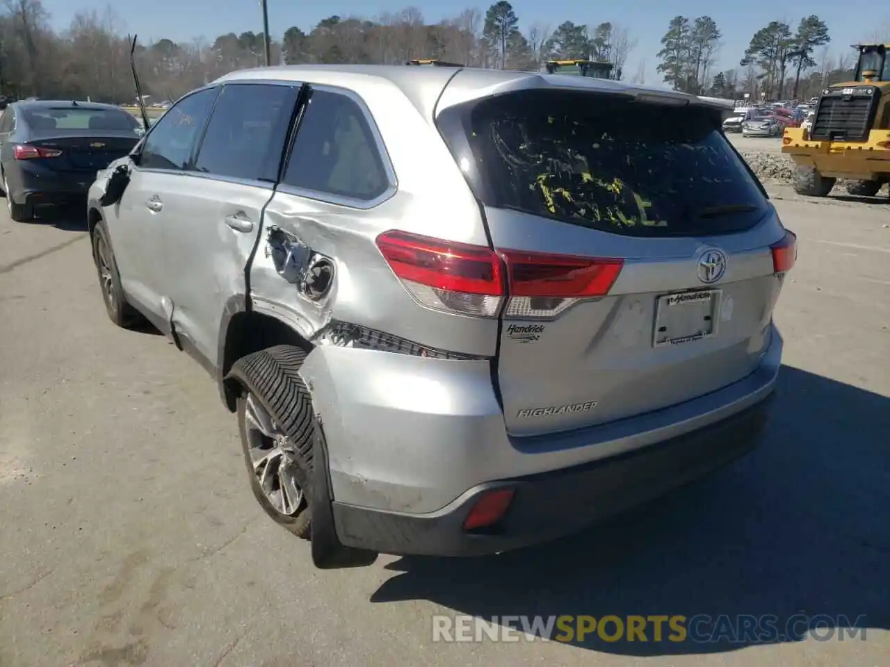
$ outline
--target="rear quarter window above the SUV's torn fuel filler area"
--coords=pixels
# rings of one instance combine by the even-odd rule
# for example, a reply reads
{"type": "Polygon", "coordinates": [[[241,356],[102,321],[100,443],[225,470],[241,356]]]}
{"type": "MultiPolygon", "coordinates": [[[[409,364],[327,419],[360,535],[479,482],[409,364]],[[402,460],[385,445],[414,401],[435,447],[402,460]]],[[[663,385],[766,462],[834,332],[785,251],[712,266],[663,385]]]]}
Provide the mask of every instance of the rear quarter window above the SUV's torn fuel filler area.
{"type": "Polygon", "coordinates": [[[385,192],[389,179],[383,159],[354,100],[336,92],[312,92],[284,182],[363,201],[385,192]]]}

